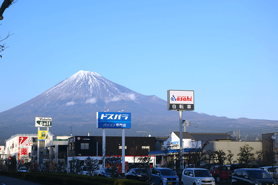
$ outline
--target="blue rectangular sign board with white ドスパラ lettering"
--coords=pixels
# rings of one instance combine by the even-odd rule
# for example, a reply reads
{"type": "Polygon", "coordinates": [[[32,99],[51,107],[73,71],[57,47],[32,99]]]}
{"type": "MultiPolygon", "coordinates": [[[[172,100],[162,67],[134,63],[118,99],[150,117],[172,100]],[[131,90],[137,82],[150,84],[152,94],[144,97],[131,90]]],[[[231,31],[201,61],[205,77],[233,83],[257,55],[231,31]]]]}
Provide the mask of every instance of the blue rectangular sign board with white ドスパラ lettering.
{"type": "Polygon", "coordinates": [[[97,128],[130,129],[131,113],[97,112],[97,128]]]}

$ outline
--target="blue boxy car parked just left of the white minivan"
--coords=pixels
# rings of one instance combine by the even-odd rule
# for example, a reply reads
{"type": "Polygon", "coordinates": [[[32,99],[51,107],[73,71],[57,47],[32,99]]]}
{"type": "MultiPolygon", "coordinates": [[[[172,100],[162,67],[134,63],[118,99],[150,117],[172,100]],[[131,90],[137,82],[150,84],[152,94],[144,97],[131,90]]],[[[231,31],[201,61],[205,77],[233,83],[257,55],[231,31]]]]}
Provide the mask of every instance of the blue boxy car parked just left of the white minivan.
{"type": "Polygon", "coordinates": [[[152,170],[152,182],[154,185],[179,185],[179,177],[170,168],[154,168],[152,170]]]}

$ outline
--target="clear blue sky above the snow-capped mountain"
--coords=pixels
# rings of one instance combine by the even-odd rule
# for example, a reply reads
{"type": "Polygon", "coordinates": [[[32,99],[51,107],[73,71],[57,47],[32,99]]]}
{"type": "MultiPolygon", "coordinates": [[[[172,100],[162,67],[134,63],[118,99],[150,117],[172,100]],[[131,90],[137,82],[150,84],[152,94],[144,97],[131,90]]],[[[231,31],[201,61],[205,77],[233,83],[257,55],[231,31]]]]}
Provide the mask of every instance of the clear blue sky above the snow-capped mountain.
{"type": "MultiPolygon", "coordinates": [[[[1,2],[2,4],[2,2],[1,2]]],[[[195,111],[278,120],[278,1],[19,0],[0,21],[0,112],[83,71],[195,111]],[[1,44],[2,44],[1,43],[1,44]]]]}

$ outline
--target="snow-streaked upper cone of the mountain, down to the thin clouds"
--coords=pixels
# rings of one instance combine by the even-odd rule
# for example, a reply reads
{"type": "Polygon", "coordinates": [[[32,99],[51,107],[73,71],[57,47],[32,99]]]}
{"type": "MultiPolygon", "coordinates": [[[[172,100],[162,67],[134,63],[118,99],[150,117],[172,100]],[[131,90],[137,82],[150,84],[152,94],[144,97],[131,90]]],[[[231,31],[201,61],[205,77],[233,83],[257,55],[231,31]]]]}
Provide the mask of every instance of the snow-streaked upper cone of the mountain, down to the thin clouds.
{"type": "Polygon", "coordinates": [[[80,103],[94,104],[102,101],[105,104],[111,101],[136,100],[140,95],[124,86],[107,80],[96,72],[79,71],[61,81],[54,87],[39,96],[44,97],[42,102],[64,100],[66,105],[80,103]]]}

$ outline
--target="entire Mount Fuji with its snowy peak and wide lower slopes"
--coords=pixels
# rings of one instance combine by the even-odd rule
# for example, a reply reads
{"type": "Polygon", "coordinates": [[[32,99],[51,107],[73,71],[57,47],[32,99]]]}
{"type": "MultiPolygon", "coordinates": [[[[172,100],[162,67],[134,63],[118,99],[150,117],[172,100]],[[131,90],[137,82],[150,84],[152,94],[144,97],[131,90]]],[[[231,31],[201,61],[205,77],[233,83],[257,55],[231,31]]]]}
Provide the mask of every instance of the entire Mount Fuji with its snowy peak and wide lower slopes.
{"type": "MultiPolygon", "coordinates": [[[[166,93],[166,92],[165,92],[166,93]]],[[[167,111],[167,101],[145,96],[116,84],[96,72],[79,71],[25,103],[0,113],[0,141],[15,134],[36,134],[35,117],[51,117],[54,135],[101,135],[96,128],[96,112],[131,113],[131,129],[126,136],[165,136],[179,131],[178,111],[167,111]]],[[[278,121],[229,119],[194,111],[183,111],[183,118],[200,125],[233,127],[271,124],[278,121]]],[[[261,125],[262,126],[262,125],[261,125]]],[[[190,127],[190,132],[206,132],[190,127]]],[[[213,131],[210,131],[213,132],[213,131]]],[[[217,130],[215,130],[217,132],[217,130]]],[[[121,129],[107,129],[107,136],[121,136],[121,129]]]]}

